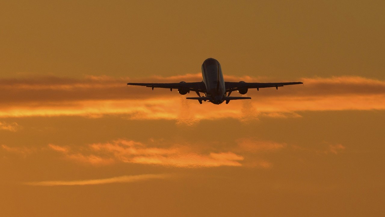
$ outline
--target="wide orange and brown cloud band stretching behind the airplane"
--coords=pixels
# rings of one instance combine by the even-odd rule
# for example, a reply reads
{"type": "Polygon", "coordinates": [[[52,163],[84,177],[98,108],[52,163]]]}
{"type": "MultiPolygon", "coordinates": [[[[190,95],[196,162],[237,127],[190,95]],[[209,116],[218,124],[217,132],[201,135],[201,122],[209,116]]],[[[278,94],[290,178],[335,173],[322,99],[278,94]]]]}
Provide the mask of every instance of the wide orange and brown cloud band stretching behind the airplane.
{"type": "MultiPolygon", "coordinates": [[[[126,87],[127,81],[197,81],[201,79],[200,76],[153,76],[135,80],[107,76],[87,76],[83,79],[0,79],[0,118],[124,115],[128,119],[166,119],[177,120],[177,123],[182,125],[194,125],[203,119],[234,118],[249,122],[261,116],[301,117],[297,114],[301,111],[385,109],[385,81],[357,76],[301,78],[298,80],[303,81],[304,85],[285,86],[278,90],[249,90],[248,96],[252,97],[251,100],[234,100],[228,105],[200,105],[166,89],[152,91],[146,87],[126,87]]],[[[225,77],[229,81],[272,81],[268,78],[249,76],[225,77]]],[[[194,93],[190,93],[191,95],[194,93]]],[[[8,128],[12,129],[9,124],[8,128]]]]}

